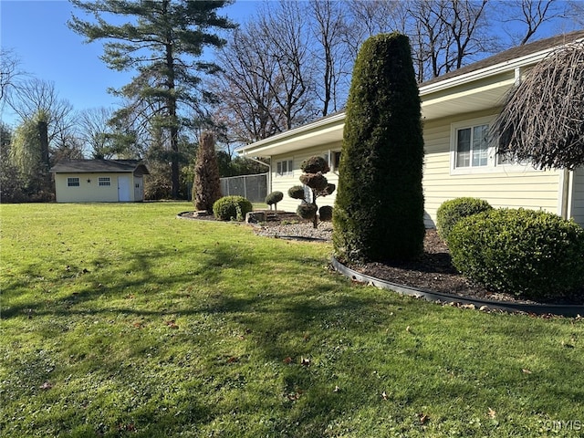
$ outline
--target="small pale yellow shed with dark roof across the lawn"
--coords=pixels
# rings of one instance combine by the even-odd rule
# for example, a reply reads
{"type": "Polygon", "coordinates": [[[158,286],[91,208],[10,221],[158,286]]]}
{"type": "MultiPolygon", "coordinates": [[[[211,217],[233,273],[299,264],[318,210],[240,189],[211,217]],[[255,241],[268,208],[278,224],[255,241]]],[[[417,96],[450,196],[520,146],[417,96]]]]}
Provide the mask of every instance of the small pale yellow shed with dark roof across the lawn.
{"type": "Polygon", "coordinates": [[[144,200],[144,175],[139,160],[68,160],[58,162],[57,203],[132,203],[144,200]]]}

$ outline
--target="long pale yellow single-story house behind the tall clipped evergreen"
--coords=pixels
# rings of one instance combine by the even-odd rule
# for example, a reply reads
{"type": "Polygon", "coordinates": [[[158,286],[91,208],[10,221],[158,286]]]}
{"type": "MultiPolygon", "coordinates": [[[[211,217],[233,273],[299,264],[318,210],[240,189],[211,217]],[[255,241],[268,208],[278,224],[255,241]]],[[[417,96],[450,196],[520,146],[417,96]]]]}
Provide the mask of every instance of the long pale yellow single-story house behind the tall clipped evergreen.
{"type": "MultiPolygon", "coordinates": [[[[582,40],[584,30],[539,40],[420,84],[426,226],[435,226],[441,203],[460,196],[483,198],[494,207],[543,209],[584,225],[584,169],[541,171],[508,162],[497,156],[485,135],[507,91],[529,68],[558,47],[582,40]]],[[[296,211],[297,200],[287,190],[299,184],[301,162],[325,157],[331,169],[325,176],[338,183],[344,121],[344,112],[332,114],[248,144],[238,153],[269,158],[268,192],[285,193],[278,208],[296,211]]],[[[318,199],[319,206],[333,204],[334,193],[318,199]]]]}

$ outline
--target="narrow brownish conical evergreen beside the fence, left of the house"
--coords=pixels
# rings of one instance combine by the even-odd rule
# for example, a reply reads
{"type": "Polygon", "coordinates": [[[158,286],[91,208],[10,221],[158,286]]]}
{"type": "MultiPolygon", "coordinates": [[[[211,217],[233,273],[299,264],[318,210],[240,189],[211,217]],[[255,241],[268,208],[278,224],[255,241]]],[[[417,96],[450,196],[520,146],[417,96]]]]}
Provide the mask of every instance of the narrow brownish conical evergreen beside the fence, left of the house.
{"type": "Polygon", "coordinates": [[[205,131],[201,135],[201,144],[194,165],[193,187],[194,208],[213,212],[213,204],[221,198],[221,182],[213,132],[205,131]]]}

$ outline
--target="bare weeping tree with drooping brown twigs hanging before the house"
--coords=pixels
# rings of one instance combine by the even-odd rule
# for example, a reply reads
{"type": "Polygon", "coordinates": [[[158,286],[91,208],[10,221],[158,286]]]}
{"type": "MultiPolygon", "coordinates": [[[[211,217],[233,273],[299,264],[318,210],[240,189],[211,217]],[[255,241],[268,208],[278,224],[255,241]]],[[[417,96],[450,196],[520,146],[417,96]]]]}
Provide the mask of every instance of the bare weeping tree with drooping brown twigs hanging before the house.
{"type": "Polygon", "coordinates": [[[527,73],[495,120],[498,151],[542,169],[584,165],[584,43],[557,50],[527,73]]]}

